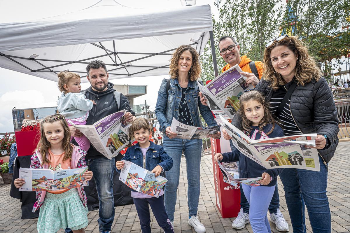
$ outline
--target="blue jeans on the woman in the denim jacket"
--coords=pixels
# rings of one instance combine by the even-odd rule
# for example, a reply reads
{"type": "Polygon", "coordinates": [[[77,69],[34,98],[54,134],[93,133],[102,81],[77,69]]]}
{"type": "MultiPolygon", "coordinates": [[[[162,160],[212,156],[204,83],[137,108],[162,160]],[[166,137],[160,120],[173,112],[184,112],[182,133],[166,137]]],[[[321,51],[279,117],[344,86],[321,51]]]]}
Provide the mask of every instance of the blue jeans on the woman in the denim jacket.
{"type": "Polygon", "coordinates": [[[202,139],[169,139],[167,136],[164,136],[163,147],[174,161],[173,168],[166,172],[168,182],[165,184],[164,192],[165,209],[169,220],[174,221],[176,191],[179,186],[182,150],[186,157],[187,166],[188,215],[197,216],[198,200],[201,192],[200,170],[202,139]]]}

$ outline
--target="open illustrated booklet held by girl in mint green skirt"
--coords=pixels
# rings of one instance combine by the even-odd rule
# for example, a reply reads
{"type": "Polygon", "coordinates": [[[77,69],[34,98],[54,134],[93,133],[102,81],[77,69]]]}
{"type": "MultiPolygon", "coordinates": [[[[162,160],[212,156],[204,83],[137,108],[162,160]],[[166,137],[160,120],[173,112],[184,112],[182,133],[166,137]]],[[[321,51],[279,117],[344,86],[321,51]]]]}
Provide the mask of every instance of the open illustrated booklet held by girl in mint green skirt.
{"type": "Polygon", "coordinates": [[[25,180],[25,184],[19,191],[56,191],[72,189],[80,186],[87,186],[89,182],[85,180],[83,174],[88,167],[75,169],[34,169],[20,168],[19,178],[25,180]]]}

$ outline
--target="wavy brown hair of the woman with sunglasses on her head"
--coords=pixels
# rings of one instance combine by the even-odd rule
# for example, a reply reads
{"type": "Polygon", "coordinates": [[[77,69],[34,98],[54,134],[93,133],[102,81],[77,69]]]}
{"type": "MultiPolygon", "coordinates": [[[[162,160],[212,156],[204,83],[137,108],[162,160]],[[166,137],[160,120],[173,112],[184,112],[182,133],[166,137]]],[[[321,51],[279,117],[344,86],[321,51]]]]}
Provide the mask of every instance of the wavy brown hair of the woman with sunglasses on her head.
{"type": "Polygon", "coordinates": [[[290,36],[280,41],[274,41],[264,51],[264,73],[262,74],[262,78],[271,83],[272,89],[277,90],[278,86],[286,84],[282,76],[274,70],[270,57],[272,49],[279,45],[287,46],[298,58],[296,60],[294,75],[298,85],[303,86],[313,79],[316,81],[320,80],[322,73],[316,65],[315,59],[309,55],[308,49],[301,40],[296,36],[290,36]]]}

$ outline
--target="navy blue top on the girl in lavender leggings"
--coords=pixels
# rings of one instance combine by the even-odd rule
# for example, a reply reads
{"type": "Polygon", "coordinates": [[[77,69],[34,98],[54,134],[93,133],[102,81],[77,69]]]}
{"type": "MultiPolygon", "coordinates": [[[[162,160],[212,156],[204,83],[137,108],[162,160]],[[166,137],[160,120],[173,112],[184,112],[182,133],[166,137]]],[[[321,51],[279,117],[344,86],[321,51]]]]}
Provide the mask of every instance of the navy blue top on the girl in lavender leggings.
{"type": "MultiPolygon", "coordinates": [[[[250,137],[252,137],[252,134],[254,133],[254,130],[257,127],[252,126],[253,130],[250,132],[250,137]]],[[[267,133],[271,130],[271,124],[265,126],[262,128],[263,132],[267,133]]],[[[255,139],[260,139],[261,134],[257,133],[255,136],[255,139]]],[[[269,138],[272,137],[282,137],[283,136],[283,129],[279,125],[275,125],[274,130],[271,134],[268,135],[269,138]]],[[[260,164],[254,162],[247,156],[243,155],[239,152],[239,150],[234,150],[228,153],[223,153],[223,159],[221,162],[230,163],[230,162],[237,162],[239,161],[239,178],[254,178],[259,177],[262,175],[262,173],[266,172],[272,177],[272,181],[268,185],[263,186],[273,186],[277,182],[277,176],[283,171],[283,168],[276,168],[276,169],[266,169],[262,167],[260,164]]]]}

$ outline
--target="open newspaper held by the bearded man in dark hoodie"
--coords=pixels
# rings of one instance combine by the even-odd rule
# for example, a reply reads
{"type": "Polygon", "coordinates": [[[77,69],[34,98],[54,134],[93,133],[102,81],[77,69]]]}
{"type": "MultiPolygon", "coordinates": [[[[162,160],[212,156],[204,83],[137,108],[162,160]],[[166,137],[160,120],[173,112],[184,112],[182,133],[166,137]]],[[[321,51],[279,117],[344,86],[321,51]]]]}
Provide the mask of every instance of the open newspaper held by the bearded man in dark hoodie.
{"type": "Polygon", "coordinates": [[[129,143],[131,124],[125,121],[125,113],[125,110],[113,113],[93,125],[72,125],[90,140],[96,150],[112,159],[129,143]]]}

